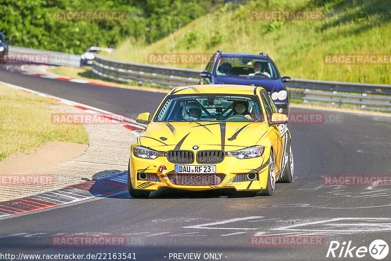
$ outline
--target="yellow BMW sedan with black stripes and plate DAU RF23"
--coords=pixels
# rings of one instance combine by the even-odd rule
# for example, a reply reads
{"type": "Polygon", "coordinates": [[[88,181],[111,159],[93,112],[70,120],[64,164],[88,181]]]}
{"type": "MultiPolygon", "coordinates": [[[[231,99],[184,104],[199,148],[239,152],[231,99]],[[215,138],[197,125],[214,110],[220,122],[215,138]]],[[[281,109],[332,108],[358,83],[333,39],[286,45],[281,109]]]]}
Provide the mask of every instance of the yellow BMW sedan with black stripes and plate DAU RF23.
{"type": "Polygon", "coordinates": [[[292,182],[288,117],[261,87],[176,87],[151,119],[146,112],[136,121],[147,127],[130,148],[132,197],[164,187],[270,196],[276,181],[292,182]]]}

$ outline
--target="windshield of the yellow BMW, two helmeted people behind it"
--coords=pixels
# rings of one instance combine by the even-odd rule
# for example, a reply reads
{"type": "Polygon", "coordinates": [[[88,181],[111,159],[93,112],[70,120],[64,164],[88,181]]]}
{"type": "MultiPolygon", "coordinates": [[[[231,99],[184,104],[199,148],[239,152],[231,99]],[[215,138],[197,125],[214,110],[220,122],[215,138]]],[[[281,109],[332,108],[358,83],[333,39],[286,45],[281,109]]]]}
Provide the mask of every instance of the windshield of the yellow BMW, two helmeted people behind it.
{"type": "Polygon", "coordinates": [[[263,114],[256,95],[178,94],[162,104],[155,121],[263,122],[263,114]]]}

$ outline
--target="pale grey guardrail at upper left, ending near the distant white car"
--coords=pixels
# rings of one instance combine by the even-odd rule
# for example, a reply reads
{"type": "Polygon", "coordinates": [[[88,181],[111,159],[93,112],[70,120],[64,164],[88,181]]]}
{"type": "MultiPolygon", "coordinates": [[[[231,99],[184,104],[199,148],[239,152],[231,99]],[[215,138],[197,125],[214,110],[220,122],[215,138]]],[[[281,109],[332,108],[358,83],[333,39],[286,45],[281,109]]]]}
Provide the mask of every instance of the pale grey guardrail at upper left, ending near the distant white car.
{"type": "Polygon", "coordinates": [[[9,45],[8,50],[8,58],[12,58],[14,60],[22,59],[22,55],[25,54],[39,54],[41,57],[48,56],[48,61],[34,61],[34,57],[32,57],[34,64],[48,64],[48,65],[60,65],[60,66],[71,66],[71,67],[80,67],[80,55],[70,54],[70,53],[62,53],[62,52],[54,52],[54,51],[46,51],[32,48],[25,48],[19,46],[9,45]],[[19,55],[18,55],[19,54],[19,55]],[[12,57],[11,57],[12,55],[12,57]]]}

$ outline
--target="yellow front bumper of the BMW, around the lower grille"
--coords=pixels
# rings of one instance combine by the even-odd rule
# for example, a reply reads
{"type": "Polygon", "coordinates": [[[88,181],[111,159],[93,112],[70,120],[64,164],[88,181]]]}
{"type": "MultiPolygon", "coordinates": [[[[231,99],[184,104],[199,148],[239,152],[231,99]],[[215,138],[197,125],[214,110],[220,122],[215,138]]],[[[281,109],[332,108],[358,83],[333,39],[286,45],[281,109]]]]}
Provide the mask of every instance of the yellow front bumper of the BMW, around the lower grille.
{"type": "MultiPolygon", "coordinates": [[[[211,190],[233,188],[237,191],[256,191],[265,189],[267,184],[267,176],[269,170],[268,156],[270,151],[265,148],[261,157],[252,159],[238,159],[234,156],[225,156],[224,160],[216,164],[199,164],[196,161],[192,164],[184,165],[216,165],[216,174],[221,178],[213,185],[176,185],[173,179],[170,179],[175,174],[175,164],[167,160],[166,157],[158,157],[156,159],[142,159],[130,156],[130,179],[134,189],[155,191],[160,188],[168,187],[184,190],[211,190]],[[154,177],[154,181],[140,180],[139,174],[144,173],[154,177]],[[255,174],[255,180],[247,180],[244,178],[247,173],[255,174]],[[237,176],[238,175],[238,176],[237,176]]],[[[179,165],[179,164],[177,164],[179,165]]],[[[208,175],[208,174],[181,174],[183,175],[208,175]]],[[[254,175],[253,175],[254,176],[254,175]]],[[[194,176],[195,177],[195,176],[194,176]]],[[[196,179],[195,177],[194,179],[196,179]]]]}

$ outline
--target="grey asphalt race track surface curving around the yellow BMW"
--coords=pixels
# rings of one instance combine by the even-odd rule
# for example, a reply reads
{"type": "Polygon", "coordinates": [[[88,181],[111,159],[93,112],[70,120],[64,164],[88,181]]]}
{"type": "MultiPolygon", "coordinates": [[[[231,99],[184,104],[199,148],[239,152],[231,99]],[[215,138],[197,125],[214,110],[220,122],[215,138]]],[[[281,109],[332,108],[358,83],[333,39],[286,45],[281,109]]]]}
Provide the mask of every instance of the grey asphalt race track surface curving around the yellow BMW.
{"type": "MultiPolygon", "coordinates": [[[[0,81],[126,116],[153,112],[165,95],[43,79],[3,69],[0,81]]],[[[300,108],[292,108],[292,112],[320,113],[324,120],[288,124],[294,181],[276,184],[273,196],[161,190],[148,199],[134,199],[124,191],[2,218],[0,253],[134,253],[132,257],[139,261],[357,260],[356,250],[369,248],[375,239],[390,245],[391,186],[325,186],[323,176],[391,175],[391,117],[300,108]],[[251,246],[249,237],[255,234],[317,235],[324,242],[251,246]],[[122,247],[52,246],[52,237],[63,235],[114,235],[126,237],[127,243],[122,247]],[[341,246],[335,250],[337,257],[330,254],[326,258],[331,241],[341,246]],[[342,245],[346,249],[349,241],[351,247],[356,246],[349,252],[353,258],[345,250],[338,258],[342,245]],[[188,254],[188,259],[174,255],[178,253],[188,254]],[[200,259],[189,259],[194,257],[190,253],[200,253],[200,259]]],[[[364,254],[359,260],[374,260],[368,252],[364,254]]]]}

